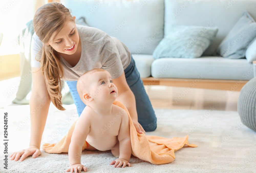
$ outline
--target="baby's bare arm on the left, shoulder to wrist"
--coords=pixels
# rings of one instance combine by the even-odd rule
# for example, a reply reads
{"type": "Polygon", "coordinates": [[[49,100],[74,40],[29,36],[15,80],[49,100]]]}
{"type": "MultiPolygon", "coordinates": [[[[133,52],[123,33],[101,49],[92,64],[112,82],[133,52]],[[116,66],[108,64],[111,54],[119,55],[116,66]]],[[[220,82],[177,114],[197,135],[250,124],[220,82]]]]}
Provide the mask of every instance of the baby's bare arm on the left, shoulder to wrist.
{"type": "Polygon", "coordinates": [[[86,141],[89,131],[90,119],[87,111],[84,110],[76,122],[68,149],[70,167],[72,165],[81,164],[82,147],[86,141]]]}

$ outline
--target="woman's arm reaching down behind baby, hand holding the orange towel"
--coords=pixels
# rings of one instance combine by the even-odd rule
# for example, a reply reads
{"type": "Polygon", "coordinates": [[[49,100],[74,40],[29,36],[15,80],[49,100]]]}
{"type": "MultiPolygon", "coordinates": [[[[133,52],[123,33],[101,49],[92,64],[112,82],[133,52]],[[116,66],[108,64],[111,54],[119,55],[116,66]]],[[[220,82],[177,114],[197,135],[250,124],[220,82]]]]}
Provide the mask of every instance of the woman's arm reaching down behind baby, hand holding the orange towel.
{"type": "Polygon", "coordinates": [[[125,74],[123,74],[115,79],[112,79],[113,83],[116,85],[118,88],[118,97],[117,101],[120,101],[121,103],[124,104],[124,106],[128,109],[132,122],[137,130],[138,133],[146,133],[143,127],[138,123],[138,115],[137,115],[137,110],[136,110],[136,102],[135,102],[135,97],[128,86],[126,79],[125,79],[125,74]]]}

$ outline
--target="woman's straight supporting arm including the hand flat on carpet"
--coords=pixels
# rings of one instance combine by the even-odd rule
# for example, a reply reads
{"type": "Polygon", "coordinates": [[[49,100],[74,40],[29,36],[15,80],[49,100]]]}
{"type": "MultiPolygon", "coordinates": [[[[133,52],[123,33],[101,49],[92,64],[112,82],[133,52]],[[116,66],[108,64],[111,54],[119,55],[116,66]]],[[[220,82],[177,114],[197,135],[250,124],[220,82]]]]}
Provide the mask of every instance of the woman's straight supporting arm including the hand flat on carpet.
{"type": "MultiPolygon", "coordinates": [[[[32,67],[32,72],[38,71],[40,68],[32,67]]],[[[36,158],[41,155],[40,144],[42,133],[45,128],[45,122],[50,106],[50,98],[47,96],[47,89],[42,71],[32,73],[32,92],[29,100],[30,105],[30,143],[27,149],[14,152],[10,155],[10,160],[17,161],[20,157],[20,162],[26,157],[32,156],[36,158]]]]}

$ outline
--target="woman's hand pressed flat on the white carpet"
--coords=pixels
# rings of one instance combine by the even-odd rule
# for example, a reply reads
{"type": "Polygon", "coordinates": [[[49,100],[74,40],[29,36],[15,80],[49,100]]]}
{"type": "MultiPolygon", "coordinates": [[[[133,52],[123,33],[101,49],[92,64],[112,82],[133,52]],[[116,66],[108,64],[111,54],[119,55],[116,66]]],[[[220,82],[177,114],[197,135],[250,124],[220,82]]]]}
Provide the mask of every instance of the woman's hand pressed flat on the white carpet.
{"type": "Polygon", "coordinates": [[[37,156],[41,155],[40,149],[34,145],[31,145],[27,149],[23,149],[18,152],[15,152],[12,155],[10,155],[9,157],[12,157],[12,158],[10,158],[10,160],[13,160],[15,158],[14,161],[17,161],[19,159],[19,157],[21,156],[21,158],[19,160],[21,162],[26,157],[31,156],[31,155],[33,155],[32,158],[37,158],[37,156]]]}

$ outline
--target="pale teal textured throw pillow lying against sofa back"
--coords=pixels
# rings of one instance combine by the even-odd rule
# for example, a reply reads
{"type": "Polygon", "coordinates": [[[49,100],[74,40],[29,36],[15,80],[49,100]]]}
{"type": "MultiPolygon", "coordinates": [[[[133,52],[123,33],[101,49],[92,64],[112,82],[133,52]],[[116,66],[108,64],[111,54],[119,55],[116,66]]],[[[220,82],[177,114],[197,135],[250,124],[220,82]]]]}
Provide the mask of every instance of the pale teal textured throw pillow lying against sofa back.
{"type": "Polygon", "coordinates": [[[212,43],[217,27],[174,25],[153,52],[161,57],[199,58],[212,43]]]}

